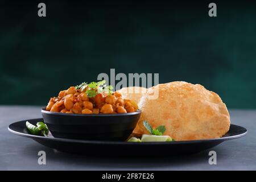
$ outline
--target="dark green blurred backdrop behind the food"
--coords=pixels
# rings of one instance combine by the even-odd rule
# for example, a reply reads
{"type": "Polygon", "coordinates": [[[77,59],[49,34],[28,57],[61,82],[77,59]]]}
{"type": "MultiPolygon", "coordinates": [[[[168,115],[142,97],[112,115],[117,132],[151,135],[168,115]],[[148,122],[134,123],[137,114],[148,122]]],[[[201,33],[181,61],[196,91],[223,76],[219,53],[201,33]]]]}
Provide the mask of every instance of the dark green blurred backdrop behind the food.
{"type": "Polygon", "coordinates": [[[0,104],[46,105],[99,73],[159,73],[200,83],[230,108],[255,108],[256,6],[252,1],[4,1],[0,104]]]}

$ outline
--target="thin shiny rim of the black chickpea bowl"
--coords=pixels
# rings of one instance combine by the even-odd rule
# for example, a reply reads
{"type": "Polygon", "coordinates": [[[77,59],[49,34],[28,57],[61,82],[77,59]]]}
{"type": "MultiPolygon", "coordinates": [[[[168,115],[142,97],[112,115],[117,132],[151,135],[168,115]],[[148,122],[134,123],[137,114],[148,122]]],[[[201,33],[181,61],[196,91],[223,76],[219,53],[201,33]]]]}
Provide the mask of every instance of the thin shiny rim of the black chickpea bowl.
{"type": "Polygon", "coordinates": [[[137,115],[137,114],[141,114],[141,110],[138,109],[137,111],[133,112],[133,113],[117,113],[117,114],[70,114],[70,113],[59,113],[59,112],[52,112],[52,111],[48,111],[46,110],[46,107],[43,107],[41,109],[42,113],[45,114],[52,114],[52,115],[68,115],[68,116],[77,116],[77,117],[86,117],[86,116],[90,116],[90,117],[110,117],[110,116],[125,116],[125,115],[137,115]]]}

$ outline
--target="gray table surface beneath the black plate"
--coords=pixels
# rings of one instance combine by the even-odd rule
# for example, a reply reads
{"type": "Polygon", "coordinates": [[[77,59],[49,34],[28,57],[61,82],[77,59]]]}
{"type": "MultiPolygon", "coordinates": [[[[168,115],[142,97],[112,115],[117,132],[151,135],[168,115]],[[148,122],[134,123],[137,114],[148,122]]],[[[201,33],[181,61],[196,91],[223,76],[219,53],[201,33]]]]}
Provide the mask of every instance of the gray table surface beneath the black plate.
{"type": "MultiPolygon", "coordinates": [[[[0,106],[1,170],[255,170],[256,110],[230,110],[231,121],[246,127],[245,137],[228,140],[195,155],[159,158],[104,158],[65,154],[7,130],[13,122],[40,118],[39,106],[0,106]],[[210,165],[209,151],[217,152],[210,165]],[[38,164],[38,151],[46,151],[46,165],[38,164]]],[[[156,150],[157,151],[157,150],[156,150]]],[[[134,151],[136,152],[136,151],[134,151]]],[[[168,152],[168,151],[167,151],[168,152]]]]}

